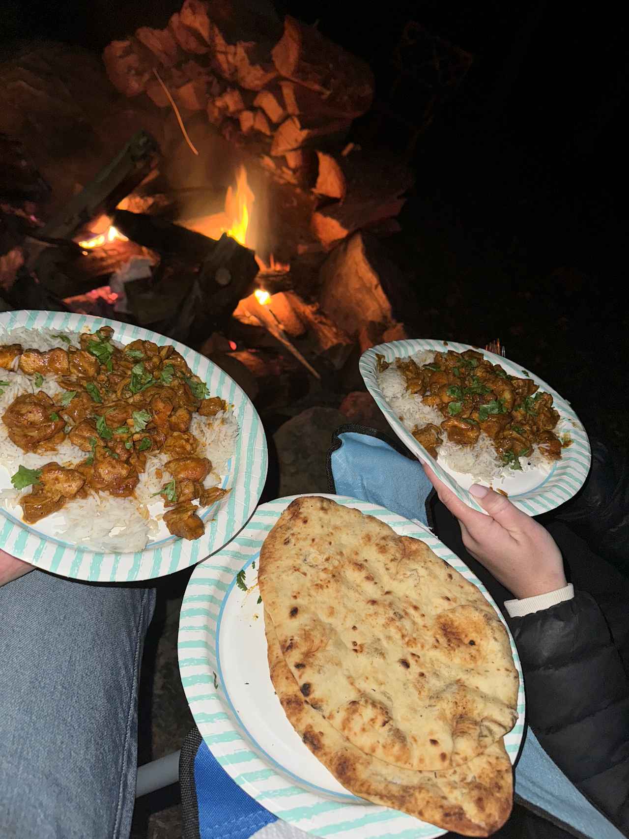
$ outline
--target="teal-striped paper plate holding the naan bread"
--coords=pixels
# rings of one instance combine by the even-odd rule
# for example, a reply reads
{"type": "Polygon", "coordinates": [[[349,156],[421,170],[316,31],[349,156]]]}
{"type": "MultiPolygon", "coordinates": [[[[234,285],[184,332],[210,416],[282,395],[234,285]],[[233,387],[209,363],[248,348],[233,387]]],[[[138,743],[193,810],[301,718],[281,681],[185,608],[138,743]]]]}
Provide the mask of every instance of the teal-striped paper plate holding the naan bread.
{"type": "MultiPolygon", "coordinates": [[[[304,746],[275,695],[263,606],[257,602],[257,559],[268,531],[294,498],[299,496],[257,508],[247,527],[190,577],[179,616],[179,672],[192,716],[211,753],[242,789],[313,836],[443,836],[446,831],[439,827],[351,795],[304,746]],[[244,571],[247,591],[237,585],[239,571],[244,571]]],[[[482,591],[507,626],[481,581],[429,529],[355,498],[325,498],[375,516],[397,534],[421,539],[482,591]]],[[[513,763],[524,730],[524,683],[511,634],[509,638],[520,677],[517,723],[504,738],[513,763]]]]}

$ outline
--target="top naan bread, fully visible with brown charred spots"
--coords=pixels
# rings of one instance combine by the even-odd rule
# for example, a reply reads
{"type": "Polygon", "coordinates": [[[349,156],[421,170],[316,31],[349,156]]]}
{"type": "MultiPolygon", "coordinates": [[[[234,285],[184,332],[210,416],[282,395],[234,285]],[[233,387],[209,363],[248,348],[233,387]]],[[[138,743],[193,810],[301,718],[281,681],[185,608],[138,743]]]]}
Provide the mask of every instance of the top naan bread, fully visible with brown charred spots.
{"type": "Polygon", "coordinates": [[[298,498],[264,541],[258,582],[302,695],[361,752],[450,769],[513,727],[507,631],[418,539],[328,498],[298,498]]]}

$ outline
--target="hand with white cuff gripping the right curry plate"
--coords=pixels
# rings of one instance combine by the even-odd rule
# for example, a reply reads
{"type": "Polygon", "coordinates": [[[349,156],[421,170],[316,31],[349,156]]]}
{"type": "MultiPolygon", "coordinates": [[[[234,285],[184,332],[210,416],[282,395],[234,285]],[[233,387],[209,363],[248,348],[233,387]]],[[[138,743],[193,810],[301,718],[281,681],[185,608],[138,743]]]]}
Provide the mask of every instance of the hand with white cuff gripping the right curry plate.
{"type": "Polygon", "coordinates": [[[465,548],[518,598],[534,597],[566,585],[564,560],[553,537],[499,492],[472,484],[489,515],[468,507],[423,464],[442,503],[459,519],[465,548]]]}

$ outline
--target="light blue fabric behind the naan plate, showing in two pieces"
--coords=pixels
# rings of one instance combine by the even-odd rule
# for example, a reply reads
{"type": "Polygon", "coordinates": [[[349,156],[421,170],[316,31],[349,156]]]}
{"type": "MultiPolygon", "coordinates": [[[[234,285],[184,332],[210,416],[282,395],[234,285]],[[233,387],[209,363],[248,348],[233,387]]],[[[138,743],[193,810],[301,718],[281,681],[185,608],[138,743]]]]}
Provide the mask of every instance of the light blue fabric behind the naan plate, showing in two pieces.
{"type": "MultiPolygon", "coordinates": [[[[425,502],[432,485],[418,461],[398,454],[382,440],[356,432],[339,435],[332,452],[336,492],[381,504],[406,519],[426,524],[425,502]]],[[[622,839],[544,752],[530,728],[516,767],[516,792],[591,839],[622,839]]]]}

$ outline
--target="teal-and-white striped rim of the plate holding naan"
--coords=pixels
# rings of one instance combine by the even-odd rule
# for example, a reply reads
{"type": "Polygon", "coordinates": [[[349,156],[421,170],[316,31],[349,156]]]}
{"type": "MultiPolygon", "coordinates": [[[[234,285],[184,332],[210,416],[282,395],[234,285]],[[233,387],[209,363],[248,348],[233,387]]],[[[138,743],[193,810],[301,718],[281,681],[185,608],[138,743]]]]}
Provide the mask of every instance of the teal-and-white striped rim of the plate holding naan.
{"type": "MultiPolygon", "coordinates": [[[[507,753],[514,763],[524,732],[525,699],[522,668],[507,623],[486,587],[462,560],[423,525],[404,519],[403,516],[376,504],[359,501],[356,498],[330,495],[325,492],[311,492],[304,495],[332,498],[337,503],[375,515],[376,518],[386,521],[397,532],[421,537],[437,555],[481,590],[507,628],[513,660],[520,680],[517,722],[512,732],[505,737],[507,753]]],[[[190,712],[207,747],[227,774],[252,798],[261,799],[260,803],[274,815],[314,836],[328,836],[331,833],[343,832],[348,839],[367,839],[372,836],[375,839],[375,837],[383,836],[378,826],[382,821],[387,822],[386,836],[397,835],[398,831],[404,831],[405,839],[419,839],[419,837],[434,839],[434,837],[443,836],[447,831],[441,828],[429,825],[398,810],[373,805],[370,802],[361,802],[349,793],[349,801],[341,801],[340,795],[317,793],[304,779],[295,781],[303,789],[299,795],[295,795],[294,787],[286,788],[287,779],[295,780],[294,774],[281,767],[276,769],[278,764],[273,758],[271,760],[275,766],[271,765],[265,754],[256,748],[257,741],[254,734],[247,732],[240,722],[240,717],[234,715],[229,690],[221,678],[219,642],[222,613],[232,592],[240,597],[246,596],[236,587],[237,572],[243,568],[246,569],[254,560],[257,560],[264,538],[283,509],[294,498],[301,497],[294,495],[278,498],[260,505],[242,533],[238,534],[230,545],[226,545],[216,555],[200,563],[190,577],[181,606],[178,637],[179,673],[190,712]],[[288,802],[282,800],[282,789],[291,790],[288,802]],[[269,796],[269,793],[272,795],[269,796]]],[[[247,586],[252,586],[250,579],[247,579],[247,586]]],[[[257,624],[263,631],[263,617],[257,624]]],[[[288,792],[287,795],[289,795],[288,792]]]]}

